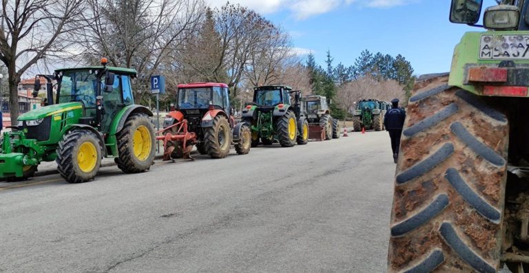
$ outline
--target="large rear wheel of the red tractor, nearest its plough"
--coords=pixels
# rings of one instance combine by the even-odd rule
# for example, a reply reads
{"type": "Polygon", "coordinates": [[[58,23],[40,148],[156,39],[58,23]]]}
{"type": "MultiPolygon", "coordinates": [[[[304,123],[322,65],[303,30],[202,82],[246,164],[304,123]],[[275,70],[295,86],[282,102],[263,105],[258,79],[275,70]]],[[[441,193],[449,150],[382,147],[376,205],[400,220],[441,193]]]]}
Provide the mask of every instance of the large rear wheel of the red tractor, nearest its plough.
{"type": "Polygon", "coordinates": [[[211,158],[224,158],[229,154],[231,129],[225,116],[216,116],[213,126],[205,129],[204,146],[211,158]]]}

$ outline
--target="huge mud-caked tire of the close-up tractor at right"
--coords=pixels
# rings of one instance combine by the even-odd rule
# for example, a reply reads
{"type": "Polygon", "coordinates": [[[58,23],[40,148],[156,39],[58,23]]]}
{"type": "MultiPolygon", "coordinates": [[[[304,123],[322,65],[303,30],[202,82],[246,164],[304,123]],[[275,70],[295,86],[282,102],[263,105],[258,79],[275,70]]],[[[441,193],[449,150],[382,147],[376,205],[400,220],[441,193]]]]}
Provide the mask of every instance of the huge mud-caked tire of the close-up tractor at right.
{"type": "Polygon", "coordinates": [[[406,111],[388,272],[496,272],[508,120],[486,98],[429,88],[406,111]]]}

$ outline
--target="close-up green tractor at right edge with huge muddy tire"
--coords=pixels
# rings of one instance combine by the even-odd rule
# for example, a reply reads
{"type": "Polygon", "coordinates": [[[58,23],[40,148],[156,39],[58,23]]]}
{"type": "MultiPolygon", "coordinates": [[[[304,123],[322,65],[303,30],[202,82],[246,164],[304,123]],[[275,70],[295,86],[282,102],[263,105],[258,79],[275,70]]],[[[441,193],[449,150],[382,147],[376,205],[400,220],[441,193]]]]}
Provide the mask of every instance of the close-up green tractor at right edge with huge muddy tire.
{"type": "Polygon", "coordinates": [[[486,31],[415,84],[388,272],[529,272],[529,1],[497,2],[475,25],[482,1],[453,0],[450,21],[486,31]]]}

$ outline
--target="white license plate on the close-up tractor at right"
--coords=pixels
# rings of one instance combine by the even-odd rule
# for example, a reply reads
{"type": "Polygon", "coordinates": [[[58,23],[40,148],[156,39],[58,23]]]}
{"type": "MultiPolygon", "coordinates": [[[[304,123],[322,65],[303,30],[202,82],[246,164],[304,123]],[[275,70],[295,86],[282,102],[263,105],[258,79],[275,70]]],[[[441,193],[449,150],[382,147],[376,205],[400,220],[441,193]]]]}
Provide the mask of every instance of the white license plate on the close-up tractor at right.
{"type": "Polygon", "coordinates": [[[482,60],[529,60],[529,35],[481,35],[482,60]]]}

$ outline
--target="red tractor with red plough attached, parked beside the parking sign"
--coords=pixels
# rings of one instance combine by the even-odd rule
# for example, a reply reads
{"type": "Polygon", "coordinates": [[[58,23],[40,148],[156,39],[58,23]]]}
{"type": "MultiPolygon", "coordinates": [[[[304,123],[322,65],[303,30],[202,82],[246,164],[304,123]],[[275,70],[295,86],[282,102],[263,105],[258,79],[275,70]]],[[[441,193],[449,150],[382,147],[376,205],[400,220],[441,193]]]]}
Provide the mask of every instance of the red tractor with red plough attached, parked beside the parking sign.
{"type": "Polygon", "coordinates": [[[193,159],[193,146],[201,155],[224,158],[233,143],[239,155],[249,153],[251,131],[247,124],[235,124],[231,117],[229,89],[224,83],[178,85],[175,111],[165,117],[164,160],[193,159]]]}

